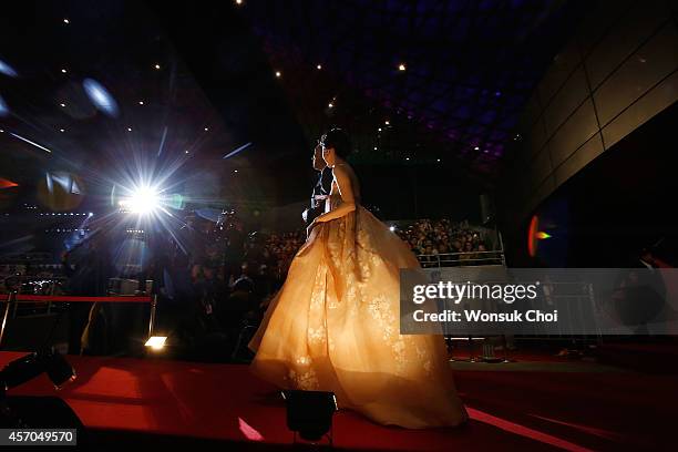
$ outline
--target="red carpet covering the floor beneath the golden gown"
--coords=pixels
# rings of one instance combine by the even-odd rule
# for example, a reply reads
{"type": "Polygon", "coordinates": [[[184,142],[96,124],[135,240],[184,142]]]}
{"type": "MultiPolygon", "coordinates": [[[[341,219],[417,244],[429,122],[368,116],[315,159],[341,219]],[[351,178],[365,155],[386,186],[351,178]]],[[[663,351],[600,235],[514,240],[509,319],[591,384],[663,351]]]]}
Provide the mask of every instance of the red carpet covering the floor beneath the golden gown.
{"type": "MultiPolygon", "coordinates": [[[[4,366],[21,353],[0,353],[4,366]]],[[[171,434],[248,445],[289,444],[285,405],[246,366],[69,357],[78,380],[59,396],[100,431],[171,434]]],[[[411,431],[335,417],[342,450],[669,449],[676,378],[637,373],[460,371],[471,414],[460,429],[411,431]]],[[[45,376],[10,394],[54,396],[45,376]]]]}

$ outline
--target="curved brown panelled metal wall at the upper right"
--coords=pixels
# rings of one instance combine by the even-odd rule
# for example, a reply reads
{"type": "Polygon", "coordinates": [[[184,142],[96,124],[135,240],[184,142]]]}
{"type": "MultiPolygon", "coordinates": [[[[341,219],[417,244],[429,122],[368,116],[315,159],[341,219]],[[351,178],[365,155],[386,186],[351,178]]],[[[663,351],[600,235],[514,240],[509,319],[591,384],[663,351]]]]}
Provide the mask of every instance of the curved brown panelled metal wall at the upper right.
{"type": "MultiPolygon", "coordinates": [[[[678,1],[600,1],[534,90],[504,193],[524,219],[678,101],[678,1]]],[[[667,150],[668,151],[668,150],[667,150]]]]}

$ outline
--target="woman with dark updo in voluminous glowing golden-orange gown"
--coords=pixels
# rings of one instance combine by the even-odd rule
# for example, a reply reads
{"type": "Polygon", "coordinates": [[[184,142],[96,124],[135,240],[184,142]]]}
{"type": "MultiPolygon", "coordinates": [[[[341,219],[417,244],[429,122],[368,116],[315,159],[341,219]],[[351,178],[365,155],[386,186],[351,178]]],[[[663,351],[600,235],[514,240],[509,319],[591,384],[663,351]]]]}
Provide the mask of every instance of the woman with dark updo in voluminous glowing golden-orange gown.
{"type": "Polygon", "coordinates": [[[382,424],[463,423],[442,336],[400,335],[399,270],[419,268],[417,257],[360,206],[348,135],[331,130],[321,145],[333,172],[326,213],[249,343],[253,371],[284,389],[331,391],[339,408],[382,424]]]}

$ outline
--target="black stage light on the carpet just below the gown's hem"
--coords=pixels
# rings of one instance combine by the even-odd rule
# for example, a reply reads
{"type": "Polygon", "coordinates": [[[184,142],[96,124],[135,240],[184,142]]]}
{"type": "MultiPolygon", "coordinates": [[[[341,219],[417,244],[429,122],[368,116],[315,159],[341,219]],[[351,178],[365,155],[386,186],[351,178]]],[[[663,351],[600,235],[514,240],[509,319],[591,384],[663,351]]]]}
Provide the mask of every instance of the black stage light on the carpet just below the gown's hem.
{"type": "MultiPolygon", "coordinates": [[[[317,442],[332,430],[332,417],[337,411],[333,392],[282,391],[287,407],[287,428],[306,441],[317,442]]],[[[331,435],[329,436],[332,443],[331,435]]]]}

